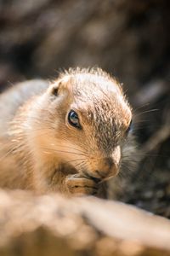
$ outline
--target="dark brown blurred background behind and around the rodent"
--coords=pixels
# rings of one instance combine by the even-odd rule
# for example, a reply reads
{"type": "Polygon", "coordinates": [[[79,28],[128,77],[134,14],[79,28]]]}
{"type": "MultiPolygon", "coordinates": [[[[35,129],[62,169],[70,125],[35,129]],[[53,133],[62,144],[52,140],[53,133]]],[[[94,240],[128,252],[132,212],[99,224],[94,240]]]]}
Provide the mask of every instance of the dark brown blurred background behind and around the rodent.
{"type": "Polygon", "coordinates": [[[168,0],[0,0],[0,90],[54,79],[68,67],[98,66],[116,76],[134,109],[141,158],[119,199],[167,218],[169,35],[168,0]]]}

